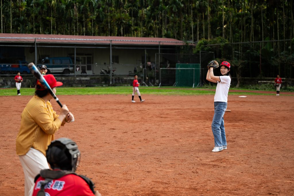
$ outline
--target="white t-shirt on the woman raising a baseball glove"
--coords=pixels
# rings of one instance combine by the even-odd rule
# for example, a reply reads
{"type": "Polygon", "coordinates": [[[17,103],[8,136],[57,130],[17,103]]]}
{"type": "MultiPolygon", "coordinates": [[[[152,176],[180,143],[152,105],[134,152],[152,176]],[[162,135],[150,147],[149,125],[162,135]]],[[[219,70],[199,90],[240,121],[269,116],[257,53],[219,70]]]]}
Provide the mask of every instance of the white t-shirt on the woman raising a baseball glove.
{"type": "Polygon", "coordinates": [[[228,102],[228,92],[230,88],[230,76],[219,76],[220,82],[217,81],[216,94],[214,95],[214,102],[228,102]]]}

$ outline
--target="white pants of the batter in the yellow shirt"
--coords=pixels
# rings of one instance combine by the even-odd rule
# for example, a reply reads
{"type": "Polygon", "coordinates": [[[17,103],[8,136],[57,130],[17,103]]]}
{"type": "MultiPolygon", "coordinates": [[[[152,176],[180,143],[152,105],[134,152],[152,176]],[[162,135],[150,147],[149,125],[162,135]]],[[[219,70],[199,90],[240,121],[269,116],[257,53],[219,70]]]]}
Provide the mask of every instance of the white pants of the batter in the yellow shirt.
{"type": "Polygon", "coordinates": [[[34,179],[41,170],[49,169],[46,157],[39,150],[30,148],[25,155],[19,156],[24,170],[24,195],[28,196],[31,187],[35,185],[34,179]]]}

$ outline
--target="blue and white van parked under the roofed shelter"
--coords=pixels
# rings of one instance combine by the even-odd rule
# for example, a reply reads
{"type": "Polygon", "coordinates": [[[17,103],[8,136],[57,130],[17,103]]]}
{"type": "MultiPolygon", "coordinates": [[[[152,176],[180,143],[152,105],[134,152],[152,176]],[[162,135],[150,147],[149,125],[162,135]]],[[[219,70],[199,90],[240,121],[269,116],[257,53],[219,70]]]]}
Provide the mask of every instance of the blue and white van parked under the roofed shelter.
{"type": "Polygon", "coordinates": [[[42,64],[38,64],[37,67],[40,69],[41,65],[46,65],[47,74],[70,74],[74,72],[74,63],[71,57],[46,57],[42,59],[42,64]]]}

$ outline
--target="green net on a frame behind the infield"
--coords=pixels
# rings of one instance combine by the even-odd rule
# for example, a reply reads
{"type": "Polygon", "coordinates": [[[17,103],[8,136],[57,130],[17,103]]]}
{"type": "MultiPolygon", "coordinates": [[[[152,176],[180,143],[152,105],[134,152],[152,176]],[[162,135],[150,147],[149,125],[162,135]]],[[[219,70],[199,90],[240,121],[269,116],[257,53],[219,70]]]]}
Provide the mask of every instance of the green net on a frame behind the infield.
{"type": "Polygon", "coordinates": [[[200,64],[177,63],[175,86],[198,86],[200,83],[200,64]]]}

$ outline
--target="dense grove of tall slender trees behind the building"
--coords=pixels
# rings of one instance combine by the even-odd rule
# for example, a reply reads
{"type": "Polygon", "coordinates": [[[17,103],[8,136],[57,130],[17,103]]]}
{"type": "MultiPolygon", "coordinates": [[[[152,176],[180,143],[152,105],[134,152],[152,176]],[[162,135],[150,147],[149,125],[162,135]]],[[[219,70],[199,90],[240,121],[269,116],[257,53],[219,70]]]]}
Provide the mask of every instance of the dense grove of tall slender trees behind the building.
{"type": "MultiPolygon", "coordinates": [[[[278,64],[280,55],[293,55],[294,0],[0,1],[1,33],[175,38],[196,43],[194,52],[213,50],[239,64],[248,63],[248,50],[258,55],[265,48],[273,54],[263,58],[278,55],[278,64]]],[[[291,76],[292,66],[278,67],[288,69],[291,76]]]]}

